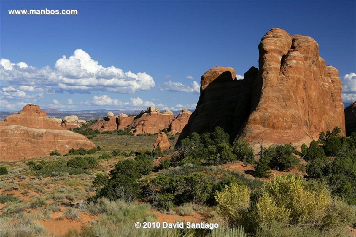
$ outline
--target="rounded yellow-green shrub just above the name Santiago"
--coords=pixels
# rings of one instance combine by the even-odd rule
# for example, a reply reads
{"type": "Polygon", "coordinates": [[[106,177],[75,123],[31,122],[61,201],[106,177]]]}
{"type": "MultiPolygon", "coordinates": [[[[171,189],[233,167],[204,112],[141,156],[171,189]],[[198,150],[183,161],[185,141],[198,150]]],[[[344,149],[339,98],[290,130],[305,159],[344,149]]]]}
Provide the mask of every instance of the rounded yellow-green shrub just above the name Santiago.
{"type": "Polygon", "coordinates": [[[250,191],[246,185],[232,183],[225,186],[225,190],[216,192],[215,198],[222,215],[232,225],[241,223],[250,207],[250,191]]]}

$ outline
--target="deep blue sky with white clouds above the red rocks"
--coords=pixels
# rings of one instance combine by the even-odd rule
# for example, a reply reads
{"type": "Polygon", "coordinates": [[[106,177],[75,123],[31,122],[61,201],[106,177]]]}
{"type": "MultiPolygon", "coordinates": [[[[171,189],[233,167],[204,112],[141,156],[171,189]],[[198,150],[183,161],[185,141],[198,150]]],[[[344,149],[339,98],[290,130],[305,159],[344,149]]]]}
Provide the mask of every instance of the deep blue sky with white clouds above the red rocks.
{"type": "Polygon", "coordinates": [[[273,27],[313,37],[356,100],[356,1],[0,1],[0,110],[194,109],[214,66],[243,75],[273,27]],[[75,9],[72,16],[11,9],[75,9]]]}

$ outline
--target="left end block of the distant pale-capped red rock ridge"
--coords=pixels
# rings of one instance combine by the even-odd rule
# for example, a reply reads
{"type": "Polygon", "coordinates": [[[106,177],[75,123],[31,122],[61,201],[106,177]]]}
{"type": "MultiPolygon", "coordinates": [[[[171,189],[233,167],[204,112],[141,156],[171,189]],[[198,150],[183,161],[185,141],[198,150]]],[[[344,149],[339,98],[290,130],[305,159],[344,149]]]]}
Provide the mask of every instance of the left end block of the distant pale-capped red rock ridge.
{"type": "Polygon", "coordinates": [[[127,114],[119,114],[115,116],[114,113],[108,112],[106,117],[99,119],[93,125],[90,125],[89,128],[95,130],[98,129],[100,132],[113,131],[117,129],[124,130],[134,119],[133,116],[127,116],[127,114]]]}

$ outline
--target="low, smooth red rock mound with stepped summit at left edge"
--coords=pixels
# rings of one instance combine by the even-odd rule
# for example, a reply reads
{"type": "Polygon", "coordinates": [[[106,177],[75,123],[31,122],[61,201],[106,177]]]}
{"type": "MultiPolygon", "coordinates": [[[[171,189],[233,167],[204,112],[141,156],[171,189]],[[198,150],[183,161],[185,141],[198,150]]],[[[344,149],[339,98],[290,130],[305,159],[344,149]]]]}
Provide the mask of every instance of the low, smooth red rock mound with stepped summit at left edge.
{"type": "Polygon", "coordinates": [[[47,118],[38,105],[26,105],[0,122],[0,161],[49,155],[55,149],[66,154],[80,147],[91,149],[95,144],[47,118]]]}

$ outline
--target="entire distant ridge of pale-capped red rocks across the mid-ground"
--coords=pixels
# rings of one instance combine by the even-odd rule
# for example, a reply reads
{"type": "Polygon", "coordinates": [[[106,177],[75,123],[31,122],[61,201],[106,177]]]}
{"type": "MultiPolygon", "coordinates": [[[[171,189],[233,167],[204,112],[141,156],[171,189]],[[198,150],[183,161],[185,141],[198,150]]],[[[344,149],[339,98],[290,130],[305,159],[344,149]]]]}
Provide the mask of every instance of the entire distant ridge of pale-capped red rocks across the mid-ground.
{"type": "Polygon", "coordinates": [[[107,116],[99,119],[89,128],[100,132],[125,130],[128,129],[133,134],[148,134],[158,133],[166,129],[169,134],[182,132],[183,127],[187,124],[192,112],[182,109],[182,111],[174,117],[170,110],[163,113],[154,106],[148,106],[146,110],[142,110],[136,117],[128,116],[127,114],[119,114],[108,112],[107,116]]]}

